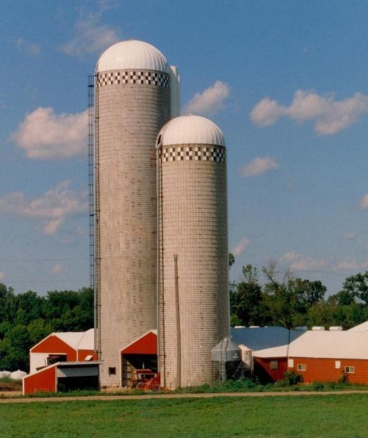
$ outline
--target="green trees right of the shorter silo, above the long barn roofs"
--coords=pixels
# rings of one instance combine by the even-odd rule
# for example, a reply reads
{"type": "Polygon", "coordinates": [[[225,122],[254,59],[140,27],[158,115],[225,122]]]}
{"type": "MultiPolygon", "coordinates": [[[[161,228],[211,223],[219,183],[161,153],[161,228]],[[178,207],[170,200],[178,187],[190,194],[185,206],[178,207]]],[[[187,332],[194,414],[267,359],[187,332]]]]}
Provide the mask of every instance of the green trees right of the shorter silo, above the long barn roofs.
{"type": "MultiPolygon", "coordinates": [[[[230,267],[234,258],[230,255],[230,267]]],[[[230,322],[234,325],[297,326],[340,325],[347,330],[368,320],[368,272],[349,276],[342,289],[326,297],[320,280],[295,278],[277,266],[252,265],[242,269],[241,279],[230,283],[230,322]],[[264,282],[261,283],[260,274],[264,282]]]]}

